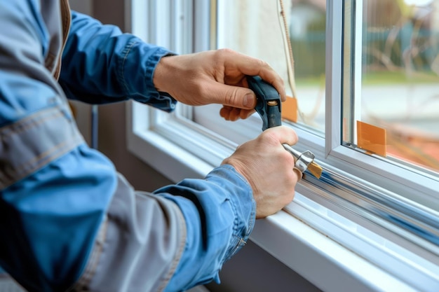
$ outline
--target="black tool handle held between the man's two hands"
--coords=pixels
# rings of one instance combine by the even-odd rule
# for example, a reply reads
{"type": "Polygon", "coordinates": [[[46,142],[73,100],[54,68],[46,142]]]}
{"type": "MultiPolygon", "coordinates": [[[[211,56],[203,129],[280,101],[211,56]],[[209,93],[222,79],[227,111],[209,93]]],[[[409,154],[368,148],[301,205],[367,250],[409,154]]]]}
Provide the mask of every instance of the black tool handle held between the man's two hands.
{"type": "Polygon", "coordinates": [[[262,118],[262,131],[282,125],[281,95],[276,88],[259,76],[248,76],[247,81],[248,88],[253,90],[257,97],[255,110],[262,118]]]}

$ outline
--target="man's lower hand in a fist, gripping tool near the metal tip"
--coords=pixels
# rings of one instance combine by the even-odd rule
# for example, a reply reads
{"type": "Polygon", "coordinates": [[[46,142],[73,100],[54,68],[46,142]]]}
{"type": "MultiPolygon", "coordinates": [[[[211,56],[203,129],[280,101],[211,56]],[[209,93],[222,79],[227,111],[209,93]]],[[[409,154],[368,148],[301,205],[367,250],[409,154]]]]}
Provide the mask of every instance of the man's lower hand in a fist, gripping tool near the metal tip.
{"type": "Polygon", "coordinates": [[[232,165],[252,186],[256,218],[274,214],[292,201],[302,174],[294,168],[295,160],[282,144],[296,142],[297,134],[291,128],[271,127],[222,162],[232,165]]]}

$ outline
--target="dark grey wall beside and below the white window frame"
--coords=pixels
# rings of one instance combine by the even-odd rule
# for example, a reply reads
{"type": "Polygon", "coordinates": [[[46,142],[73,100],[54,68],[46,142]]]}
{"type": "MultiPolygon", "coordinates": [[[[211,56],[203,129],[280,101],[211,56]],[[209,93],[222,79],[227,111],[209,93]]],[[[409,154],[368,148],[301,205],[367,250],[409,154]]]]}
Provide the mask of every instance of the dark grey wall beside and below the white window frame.
{"type": "MultiPolygon", "coordinates": [[[[87,1],[88,2],[88,1],[87,1]]],[[[91,2],[91,1],[90,1],[91,2]]],[[[90,3],[88,2],[88,3],[90,3]]],[[[123,1],[94,0],[93,5],[82,8],[93,11],[95,18],[104,23],[124,25],[123,1]]],[[[84,118],[86,113],[79,113],[84,118]]],[[[125,104],[100,106],[99,109],[99,150],[116,165],[119,172],[140,190],[154,190],[170,183],[161,174],[144,164],[126,150],[126,112],[125,104]]],[[[87,123],[83,123],[86,125],[87,123]]],[[[87,131],[84,129],[84,131],[87,131]]],[[[275,239],[273,239],[275,240],[275,239]]],[[[292,248],[294,248],[292,246],[292,248]]],[[[210,284],[212,292],[283,292],[319,291],[269,253],[249,242],[221,272],[222,284],[210,284]]]]}

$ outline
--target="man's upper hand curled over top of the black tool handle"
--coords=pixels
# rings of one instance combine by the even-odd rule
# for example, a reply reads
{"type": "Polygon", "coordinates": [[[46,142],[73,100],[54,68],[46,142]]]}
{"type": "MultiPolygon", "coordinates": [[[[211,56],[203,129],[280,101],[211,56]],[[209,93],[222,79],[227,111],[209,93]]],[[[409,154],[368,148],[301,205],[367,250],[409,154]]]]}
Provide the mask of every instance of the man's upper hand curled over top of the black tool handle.
{"type": "Polygon", "coordinates": [[[163,57],[154,71],[154,85],[183,104],[222,104],[220,115],[238,120],[255,112],[256,97],[248,89],[247,75],[261,76],[285,100],[283,80],[269,64],[229,49],[163,57]]]}

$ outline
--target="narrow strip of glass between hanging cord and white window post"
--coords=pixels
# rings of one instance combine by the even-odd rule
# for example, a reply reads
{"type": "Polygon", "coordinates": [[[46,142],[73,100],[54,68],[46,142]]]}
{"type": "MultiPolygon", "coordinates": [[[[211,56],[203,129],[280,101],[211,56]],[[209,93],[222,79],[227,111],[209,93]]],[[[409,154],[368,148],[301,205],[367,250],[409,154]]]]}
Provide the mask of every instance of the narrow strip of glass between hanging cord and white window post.
{"type": "Polygon", "coordinates": [[[299,122],[324,132],[325,0],[292,0],[290,39],[295,57],[299,122]]]}

